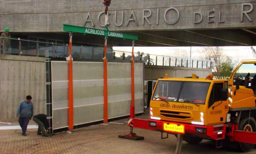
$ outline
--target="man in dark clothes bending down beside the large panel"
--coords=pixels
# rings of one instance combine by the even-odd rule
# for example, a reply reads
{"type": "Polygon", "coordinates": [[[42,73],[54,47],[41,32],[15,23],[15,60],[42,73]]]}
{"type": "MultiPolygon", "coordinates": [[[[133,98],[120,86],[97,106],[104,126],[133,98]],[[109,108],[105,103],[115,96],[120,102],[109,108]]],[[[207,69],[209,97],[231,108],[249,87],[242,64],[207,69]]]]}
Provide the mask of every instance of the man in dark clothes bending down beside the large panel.
{"type": "Polygon", "coordinates": [[[37,114],[33,117],[33,120],[38,124],[37,135],[43,134],[43,136],[49,136],[47,134],[49,132],[49,123],[46,117],[45,114],[37,114]]]}

